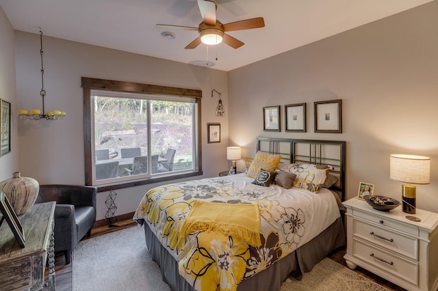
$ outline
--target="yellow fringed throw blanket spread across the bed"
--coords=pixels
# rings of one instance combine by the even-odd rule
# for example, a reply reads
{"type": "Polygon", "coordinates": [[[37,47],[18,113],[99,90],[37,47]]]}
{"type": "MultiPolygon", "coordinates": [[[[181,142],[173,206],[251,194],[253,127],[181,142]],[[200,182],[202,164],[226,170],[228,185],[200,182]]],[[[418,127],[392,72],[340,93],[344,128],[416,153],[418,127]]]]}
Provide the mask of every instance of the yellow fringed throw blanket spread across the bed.
{"type": "Polygon", "coordinates": [[[222,204],[195,200],[183,223],[184,235],[205,230],[220,232],[261,246],[260,212],[257,204],[222,204]]]}

